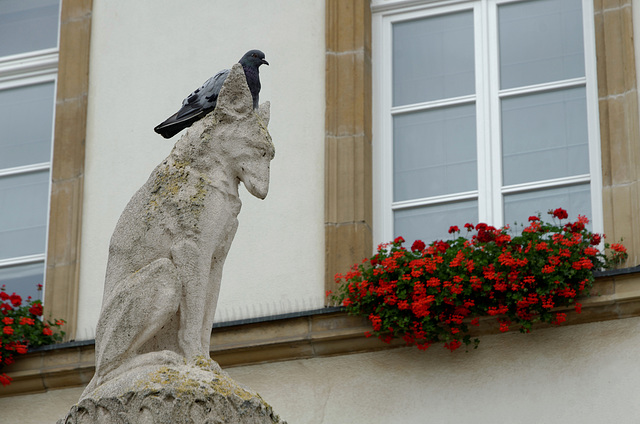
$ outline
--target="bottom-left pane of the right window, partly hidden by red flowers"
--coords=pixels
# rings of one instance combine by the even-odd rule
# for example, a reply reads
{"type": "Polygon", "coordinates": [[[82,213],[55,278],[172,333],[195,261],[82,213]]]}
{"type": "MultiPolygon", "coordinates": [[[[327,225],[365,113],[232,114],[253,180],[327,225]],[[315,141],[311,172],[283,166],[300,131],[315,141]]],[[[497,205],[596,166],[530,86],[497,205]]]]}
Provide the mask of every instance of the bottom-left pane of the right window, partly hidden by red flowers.
{"type": "Polygon", "coordinates": [[[447,240],[453,238],[448,232],[452,225],[462,228],[467,222],[478,222],[478,202],[469,200],[397,210],[393,213],[393,221],[394,237],[402,236],[409,246],[416,239],[427,244],[447,240]]]}

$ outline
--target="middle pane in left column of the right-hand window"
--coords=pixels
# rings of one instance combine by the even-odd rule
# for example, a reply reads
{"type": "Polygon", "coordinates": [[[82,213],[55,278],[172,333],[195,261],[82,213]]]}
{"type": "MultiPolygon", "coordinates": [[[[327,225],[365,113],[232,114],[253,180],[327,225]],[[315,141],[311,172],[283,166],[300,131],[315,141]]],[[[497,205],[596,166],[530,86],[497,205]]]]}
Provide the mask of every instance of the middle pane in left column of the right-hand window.
{"type": "Polygon", "coordinates": [[[393,117],[393,198],[477,189],[475,105],[393,117]]]}

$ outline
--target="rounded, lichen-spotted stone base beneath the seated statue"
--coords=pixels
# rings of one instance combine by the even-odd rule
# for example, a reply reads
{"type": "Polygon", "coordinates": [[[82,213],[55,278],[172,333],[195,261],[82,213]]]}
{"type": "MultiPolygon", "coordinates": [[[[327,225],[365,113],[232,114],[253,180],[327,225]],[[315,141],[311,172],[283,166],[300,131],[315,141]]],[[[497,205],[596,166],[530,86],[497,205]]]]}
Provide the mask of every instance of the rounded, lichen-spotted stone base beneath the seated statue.
{"type": "MultiPolygon", "coordinates": [[[[225,372],[200,366],[142,367],[103,384],[58,424],[286,424],[225,372]]],[[[215,367],[215,365],[214,365],[215,367]]]]}

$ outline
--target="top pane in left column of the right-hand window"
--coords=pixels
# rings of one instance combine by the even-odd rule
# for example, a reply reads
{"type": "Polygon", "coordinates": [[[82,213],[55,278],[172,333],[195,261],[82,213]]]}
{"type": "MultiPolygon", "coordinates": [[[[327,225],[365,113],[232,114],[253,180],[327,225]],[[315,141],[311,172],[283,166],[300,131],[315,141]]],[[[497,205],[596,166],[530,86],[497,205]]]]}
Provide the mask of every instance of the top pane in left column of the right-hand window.
{"type": "Polygon", "coordinates": [[[473,12],[393,24],[393,105],[475,92],[473,12]]]}

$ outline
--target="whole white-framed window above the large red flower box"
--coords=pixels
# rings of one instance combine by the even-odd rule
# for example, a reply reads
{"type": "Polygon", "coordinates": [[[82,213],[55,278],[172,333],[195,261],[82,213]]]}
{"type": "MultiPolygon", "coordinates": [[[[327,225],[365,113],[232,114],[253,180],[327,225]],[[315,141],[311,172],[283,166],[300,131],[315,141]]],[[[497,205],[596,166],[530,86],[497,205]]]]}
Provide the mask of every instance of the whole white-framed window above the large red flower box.
{"type": "Polygon", "coordinates": [[[556,207],[602,231],[592,7],[373,5],[376,242],[556,207]]]}

